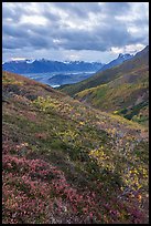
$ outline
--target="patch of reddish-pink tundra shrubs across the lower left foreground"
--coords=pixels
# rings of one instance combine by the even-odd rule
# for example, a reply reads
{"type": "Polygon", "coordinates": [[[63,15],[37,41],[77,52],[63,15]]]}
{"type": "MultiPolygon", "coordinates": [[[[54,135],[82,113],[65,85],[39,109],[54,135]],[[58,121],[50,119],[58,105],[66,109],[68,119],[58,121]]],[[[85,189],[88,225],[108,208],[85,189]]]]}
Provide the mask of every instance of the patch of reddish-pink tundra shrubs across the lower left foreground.
{"type": "MultiPolygon", "coordinates": [[[[99,194],[88,188],[79,192],[57,167],[43,160],[11,155],[11,148],[7,145],[4,148],[8,148],[2,156],[4,224],[47,224],[54,218],[60,218],[58,223],[120,222],[120,209],[114,208],[116,198],[106,203],[105,197],[100,198],[99,194]]],[[[127,212],[131,213],[134,223],[142,220],[137,208],[127,212]]]]}

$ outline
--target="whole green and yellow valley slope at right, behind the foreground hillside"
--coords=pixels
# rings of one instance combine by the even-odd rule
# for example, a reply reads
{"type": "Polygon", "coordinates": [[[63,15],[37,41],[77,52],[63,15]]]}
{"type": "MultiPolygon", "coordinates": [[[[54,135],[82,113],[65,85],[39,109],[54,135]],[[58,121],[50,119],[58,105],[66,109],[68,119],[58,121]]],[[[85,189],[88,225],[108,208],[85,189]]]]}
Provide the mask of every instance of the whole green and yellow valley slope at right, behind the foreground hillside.
{"type": "Polygon", "coordinates": [[[118,66],[60,90],[94,107],[148,125],[149,47],[118,66]]]}

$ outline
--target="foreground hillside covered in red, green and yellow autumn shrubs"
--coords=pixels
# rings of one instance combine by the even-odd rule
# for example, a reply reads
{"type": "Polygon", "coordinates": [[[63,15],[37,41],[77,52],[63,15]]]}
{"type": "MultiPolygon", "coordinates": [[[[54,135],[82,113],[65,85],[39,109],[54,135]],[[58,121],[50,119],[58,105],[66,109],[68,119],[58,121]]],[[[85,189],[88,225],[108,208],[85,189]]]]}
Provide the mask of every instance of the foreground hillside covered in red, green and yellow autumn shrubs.
{"type": "Polygon", "coordinates": [[[149,223],[148,130],[2,73],[3,224],[149,223]]]}

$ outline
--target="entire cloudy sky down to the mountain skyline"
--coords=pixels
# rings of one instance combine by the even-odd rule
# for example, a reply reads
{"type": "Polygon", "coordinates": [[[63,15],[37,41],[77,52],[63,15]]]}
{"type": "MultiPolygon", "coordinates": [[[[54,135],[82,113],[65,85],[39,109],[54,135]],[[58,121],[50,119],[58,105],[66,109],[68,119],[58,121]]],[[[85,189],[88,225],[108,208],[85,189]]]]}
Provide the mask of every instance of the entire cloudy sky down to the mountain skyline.
{"type": "Polygon", "coordinates": [[[2,61],[108,63],[149,44],[149,2],[2,2],[2,61]]]}

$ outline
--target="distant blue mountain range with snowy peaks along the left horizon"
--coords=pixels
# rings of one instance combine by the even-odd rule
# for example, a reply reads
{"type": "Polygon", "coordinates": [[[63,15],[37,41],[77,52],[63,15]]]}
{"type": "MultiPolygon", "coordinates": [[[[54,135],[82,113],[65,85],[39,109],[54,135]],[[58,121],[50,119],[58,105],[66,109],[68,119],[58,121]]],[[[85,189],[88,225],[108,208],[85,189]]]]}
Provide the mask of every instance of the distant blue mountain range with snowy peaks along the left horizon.
{"type": "Polygon", "coordinates": [[[84,61],[51,61],[51,60],[21,60],[9,61],[2,64],[3,71],[14,72],[19,74],[25,73],[47,73],[47,72],[88,72],[98,71],[104,64],[99,62],[84,61]]]}

